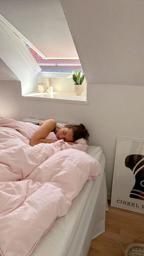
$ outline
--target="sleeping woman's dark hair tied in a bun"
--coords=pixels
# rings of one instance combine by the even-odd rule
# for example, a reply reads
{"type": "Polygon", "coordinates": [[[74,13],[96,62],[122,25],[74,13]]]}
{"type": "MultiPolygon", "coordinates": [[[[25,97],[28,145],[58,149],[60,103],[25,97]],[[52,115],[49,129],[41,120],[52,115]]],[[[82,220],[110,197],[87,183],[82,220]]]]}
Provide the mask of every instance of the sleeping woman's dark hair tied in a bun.
{"type": "Polygon", "coordinates": [[[88,140],[89,133],[82,123],[80,125],[65,125],[65,127],[73,131],[73,140],[84,138],[88,140]]]}

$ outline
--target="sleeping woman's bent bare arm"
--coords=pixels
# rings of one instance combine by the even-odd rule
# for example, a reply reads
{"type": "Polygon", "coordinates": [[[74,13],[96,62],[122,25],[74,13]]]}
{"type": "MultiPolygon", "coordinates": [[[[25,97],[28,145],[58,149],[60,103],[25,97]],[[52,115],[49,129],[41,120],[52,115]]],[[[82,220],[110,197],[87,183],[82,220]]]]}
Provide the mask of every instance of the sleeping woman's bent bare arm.
{"type": "Polygon", "coordinates": [[[34,146],[39,143],[52,143],[57,140],[45,139],[51,131],[56,128],[56,121],[54,119],[48,119],[40,122],[40,127],[33,134],[30,140],[30,145],[34,146]]]}

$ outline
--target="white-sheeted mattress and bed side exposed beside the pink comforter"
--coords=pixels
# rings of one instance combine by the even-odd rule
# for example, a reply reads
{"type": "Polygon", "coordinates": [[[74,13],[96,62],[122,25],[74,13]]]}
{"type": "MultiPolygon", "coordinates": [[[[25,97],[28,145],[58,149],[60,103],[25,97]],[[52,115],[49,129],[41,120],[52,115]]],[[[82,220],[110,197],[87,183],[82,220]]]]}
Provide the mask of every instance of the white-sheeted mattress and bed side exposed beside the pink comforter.
{"type": "Polygon", "coordinates": [[[107,205],[105,157],[101,147],[88,146],[87,153],[101,163],[102,173],[87,181],[68,214],[57,219],[32,252],[32,256],[84,256],[92,238],[104,232],[107,205]]]}

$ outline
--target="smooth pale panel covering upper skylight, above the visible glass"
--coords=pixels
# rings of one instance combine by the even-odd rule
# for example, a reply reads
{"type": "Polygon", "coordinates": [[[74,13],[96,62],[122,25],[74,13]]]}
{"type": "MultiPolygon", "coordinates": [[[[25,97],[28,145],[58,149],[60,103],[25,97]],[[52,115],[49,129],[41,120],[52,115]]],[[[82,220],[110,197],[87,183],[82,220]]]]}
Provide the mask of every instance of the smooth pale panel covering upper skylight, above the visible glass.
{"type": "Polygon", "coordinates": [[[4,16],[46,57],[78,58],[59,0],[0,0],[4,16]]]}

